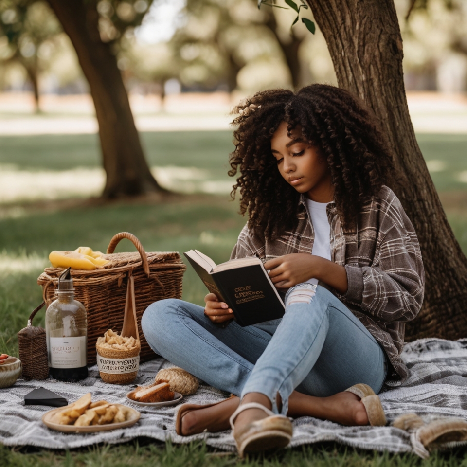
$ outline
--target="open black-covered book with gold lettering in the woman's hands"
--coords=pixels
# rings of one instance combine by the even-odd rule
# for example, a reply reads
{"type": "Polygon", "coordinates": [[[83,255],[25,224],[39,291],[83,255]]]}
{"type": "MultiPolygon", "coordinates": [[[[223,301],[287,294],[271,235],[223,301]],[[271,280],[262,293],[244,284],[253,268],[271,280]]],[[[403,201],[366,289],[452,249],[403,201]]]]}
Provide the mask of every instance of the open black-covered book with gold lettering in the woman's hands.
{"type": "Polygon", "coordinates": [[[256,256],[216,263],[198,250],[185,257],[210,292],[232,308],[241,326],[282,318],[284,302],[256,256]]]}

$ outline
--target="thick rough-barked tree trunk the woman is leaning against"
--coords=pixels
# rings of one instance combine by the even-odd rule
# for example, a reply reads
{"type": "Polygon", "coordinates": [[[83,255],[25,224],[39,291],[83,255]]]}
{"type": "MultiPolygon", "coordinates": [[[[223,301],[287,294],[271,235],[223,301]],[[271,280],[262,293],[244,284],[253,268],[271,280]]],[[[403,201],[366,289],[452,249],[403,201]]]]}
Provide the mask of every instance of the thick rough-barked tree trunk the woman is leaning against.
{"type": "Polygon", "coordinates": [[[393,0],[307,0],[326,39],[339,86],[381,120],[395,149],[392,188],[413,222],[426,272],[425,300],[406,339],[467,336],[467,259],[456,241],[415,139],[393,0]]]}

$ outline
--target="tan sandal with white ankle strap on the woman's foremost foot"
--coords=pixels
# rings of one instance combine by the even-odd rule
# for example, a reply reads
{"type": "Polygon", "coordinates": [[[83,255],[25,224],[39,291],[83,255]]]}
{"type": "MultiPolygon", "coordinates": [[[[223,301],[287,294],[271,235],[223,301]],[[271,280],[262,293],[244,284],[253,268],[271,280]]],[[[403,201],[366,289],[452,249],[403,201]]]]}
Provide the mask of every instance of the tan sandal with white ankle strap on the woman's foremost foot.
{"type": "Polygon", "coordinates": [[[290,443],[293,434],[292,423],[288,417],[278,415],[257,402],[239,405],[230,417],[230,426],[234,431],[234,439],[240,457],[253,452],[285,448],[290,443]],[[234,428],[235,419],[239,413],[248,409],[261,409],[268,416],[236,430],[234,428]]]}

